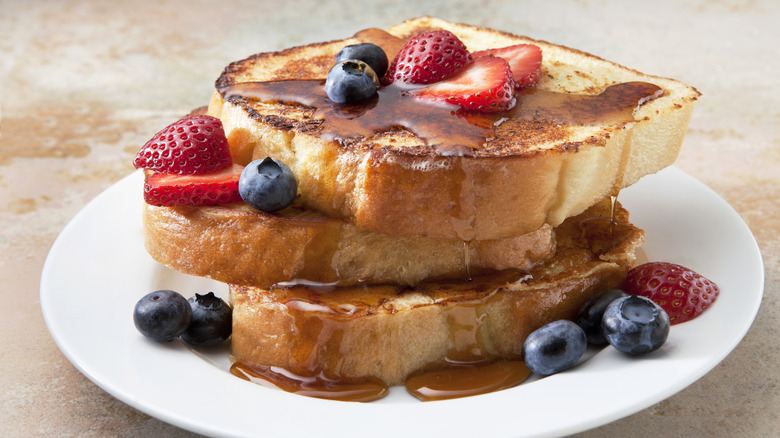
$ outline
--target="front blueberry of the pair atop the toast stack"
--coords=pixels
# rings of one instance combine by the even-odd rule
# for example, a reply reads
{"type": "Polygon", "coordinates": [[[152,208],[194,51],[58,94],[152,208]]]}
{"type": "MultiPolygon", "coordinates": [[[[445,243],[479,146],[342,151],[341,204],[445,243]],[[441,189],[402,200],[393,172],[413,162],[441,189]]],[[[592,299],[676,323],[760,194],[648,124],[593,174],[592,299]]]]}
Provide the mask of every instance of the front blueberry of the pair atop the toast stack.
{"type": "Polygon", "coordinates": [[[341,61],[330,68],[325,93],[336,103],[358,103],[376,94],[379,78],[363,61],[341,61]]]}

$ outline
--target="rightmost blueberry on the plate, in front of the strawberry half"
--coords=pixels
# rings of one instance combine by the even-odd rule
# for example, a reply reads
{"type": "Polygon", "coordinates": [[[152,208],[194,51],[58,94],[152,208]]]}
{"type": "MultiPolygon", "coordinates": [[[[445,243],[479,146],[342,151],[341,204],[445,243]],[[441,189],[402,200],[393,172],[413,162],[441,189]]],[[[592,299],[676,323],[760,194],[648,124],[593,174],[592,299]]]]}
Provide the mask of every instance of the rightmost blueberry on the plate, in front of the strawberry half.
{"type": "Polygon", "coordinates": [[[604,336],[617,350],[644,354],[658,349],[669,336],[669,315],[649,298],[618,298],[604,311],[604,336]]]}

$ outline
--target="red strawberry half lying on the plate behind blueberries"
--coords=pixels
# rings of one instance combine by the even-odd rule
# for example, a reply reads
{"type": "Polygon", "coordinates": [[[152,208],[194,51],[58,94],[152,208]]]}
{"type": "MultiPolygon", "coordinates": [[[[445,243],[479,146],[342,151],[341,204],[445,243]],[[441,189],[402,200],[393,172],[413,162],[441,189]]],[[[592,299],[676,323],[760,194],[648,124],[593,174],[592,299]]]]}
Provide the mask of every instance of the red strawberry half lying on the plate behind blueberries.
{"type": "Polygon", "coordinates": [[[712,281],[680,265],[645,263],[628,272],[623,290],[655,301],[669,315],[672,325],[704,312],[720,290],[712,281]]]}

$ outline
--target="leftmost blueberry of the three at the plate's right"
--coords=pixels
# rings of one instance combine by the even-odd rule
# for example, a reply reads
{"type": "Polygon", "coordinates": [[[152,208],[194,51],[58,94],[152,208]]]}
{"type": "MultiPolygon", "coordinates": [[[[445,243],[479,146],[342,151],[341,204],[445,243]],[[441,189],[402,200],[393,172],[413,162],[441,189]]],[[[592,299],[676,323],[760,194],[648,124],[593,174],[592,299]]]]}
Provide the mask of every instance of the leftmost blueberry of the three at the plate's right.
{"type": "Polygon", "coordinates": [[[549,376],[576,365],[587,346],[580,326],[566,320],[551,322],[526,338],[525,364],[531,371],[549,376]]]}

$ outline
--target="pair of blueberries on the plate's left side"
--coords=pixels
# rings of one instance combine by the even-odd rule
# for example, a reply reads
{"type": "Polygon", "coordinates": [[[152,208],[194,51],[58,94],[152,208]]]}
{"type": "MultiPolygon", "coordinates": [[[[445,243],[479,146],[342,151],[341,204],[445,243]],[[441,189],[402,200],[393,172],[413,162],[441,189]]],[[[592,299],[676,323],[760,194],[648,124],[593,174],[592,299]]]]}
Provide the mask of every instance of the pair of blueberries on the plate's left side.
{"type": "Polygon", "coordinates": [[[181,337],[190,345],[210,346],[230,337],[233,313],[214,292],[185,299],[178,292],[158,290],[138,300],[133,322],[141,334],[155,341],[181,337]]]}

